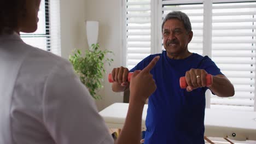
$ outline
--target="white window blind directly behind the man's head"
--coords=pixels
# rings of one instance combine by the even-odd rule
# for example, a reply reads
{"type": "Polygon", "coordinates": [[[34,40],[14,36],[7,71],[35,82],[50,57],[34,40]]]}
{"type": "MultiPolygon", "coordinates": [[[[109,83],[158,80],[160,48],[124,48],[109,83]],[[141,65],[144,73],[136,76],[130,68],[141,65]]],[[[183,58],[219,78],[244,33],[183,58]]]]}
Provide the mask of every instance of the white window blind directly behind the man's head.
{"type": "MultiPolygon", "coordinates": [[[[172,11],[182,11],[189,16],[192,31],[194,33],[193,39],[188,45],[190,52],[199,53],[202,55],[203,43],[203,1],[162,1],[162,19],[172,11]]],[[[162,22],[161,22],[162,23],[162,22]]],[[[164,46],[162,45],[162,50],[164,46]]]]}

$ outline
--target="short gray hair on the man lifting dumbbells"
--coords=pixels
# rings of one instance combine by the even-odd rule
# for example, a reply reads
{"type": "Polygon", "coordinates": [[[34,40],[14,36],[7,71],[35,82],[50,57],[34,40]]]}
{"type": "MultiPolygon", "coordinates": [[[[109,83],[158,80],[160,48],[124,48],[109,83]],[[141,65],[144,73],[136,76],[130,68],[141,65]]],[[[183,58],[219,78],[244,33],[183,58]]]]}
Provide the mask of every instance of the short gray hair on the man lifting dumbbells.
{"type": "Polygon", "coordinates": [[[178,19],[178,20],[182,21],[186,31],[187,32],[192,31],[191,23],[190,23],[188,15],[186,15],[185,13],[182,13],[181,11],[172,11],[171,13],[168,13],[165,16],[165,19],[162,21],[162,30],[164,28],[165,22],[170,19],[178,19]]]}

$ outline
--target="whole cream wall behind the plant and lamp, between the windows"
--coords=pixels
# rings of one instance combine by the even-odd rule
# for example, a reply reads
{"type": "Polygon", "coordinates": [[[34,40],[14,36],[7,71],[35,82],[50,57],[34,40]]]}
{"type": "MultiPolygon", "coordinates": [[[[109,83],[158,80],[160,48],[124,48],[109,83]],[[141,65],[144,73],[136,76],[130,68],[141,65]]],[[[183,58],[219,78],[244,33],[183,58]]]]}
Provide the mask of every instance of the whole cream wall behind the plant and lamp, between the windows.
{"type": "MultiPolygon", "coordinates": [[[[121,0],[61,0],[61,55],[68,58],[74,48],[88,49],[85,34],[85,20],[99,21],[98,43],[101,49],[115,53],[114,62],[107,73],[121,65],[121,0]]],[[[123,101],[123,94],[112,92],[105,75],[104,88],[100,92],[102,100],[97,101],[99,110],[123,101]]]]}

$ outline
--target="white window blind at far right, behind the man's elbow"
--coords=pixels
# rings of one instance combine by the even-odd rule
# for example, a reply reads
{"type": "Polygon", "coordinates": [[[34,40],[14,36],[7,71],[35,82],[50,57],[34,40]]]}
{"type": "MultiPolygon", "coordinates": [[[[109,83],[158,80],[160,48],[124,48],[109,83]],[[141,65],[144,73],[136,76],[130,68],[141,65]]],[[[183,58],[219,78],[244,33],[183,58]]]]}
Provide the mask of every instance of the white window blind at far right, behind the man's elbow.
{"type": "Polygon", "coordinates": [[[254,110],[256,1],[212,4],[212,59],[235,87],[231,98],[211,96],[211,107],[254,110]]]}

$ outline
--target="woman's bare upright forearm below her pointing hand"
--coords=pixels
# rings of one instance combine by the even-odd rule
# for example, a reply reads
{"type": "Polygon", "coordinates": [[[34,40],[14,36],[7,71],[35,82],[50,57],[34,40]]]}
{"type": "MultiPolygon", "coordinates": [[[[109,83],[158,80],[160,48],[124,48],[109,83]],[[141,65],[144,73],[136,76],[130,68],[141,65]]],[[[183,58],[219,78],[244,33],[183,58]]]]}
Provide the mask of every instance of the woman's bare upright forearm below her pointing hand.
{"type": "Polygon", "coordinates": [[[140,143],[143,107],[143,103],[130,102],[124,127],[115,144],[140,143]]]}

